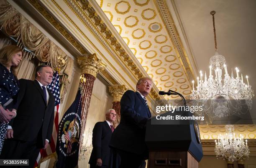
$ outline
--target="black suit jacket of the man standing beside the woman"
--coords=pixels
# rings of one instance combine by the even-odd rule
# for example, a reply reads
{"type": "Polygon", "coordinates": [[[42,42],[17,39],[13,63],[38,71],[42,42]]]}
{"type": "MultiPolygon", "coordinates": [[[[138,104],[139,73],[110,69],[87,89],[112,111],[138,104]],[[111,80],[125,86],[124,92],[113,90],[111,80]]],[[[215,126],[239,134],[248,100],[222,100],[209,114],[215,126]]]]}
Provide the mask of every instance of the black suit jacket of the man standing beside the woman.
{"type": "Polygon", "coordinates": [[[44,147],[45,139],[51,140],[54,123],[54,96],[49,92],[46,105],[43,89],[38,81],[20,79],[20,91],[14,105],[17,116],[10,124],[13,127],[13,139],[33,141],[37,138],[44,147]]]}

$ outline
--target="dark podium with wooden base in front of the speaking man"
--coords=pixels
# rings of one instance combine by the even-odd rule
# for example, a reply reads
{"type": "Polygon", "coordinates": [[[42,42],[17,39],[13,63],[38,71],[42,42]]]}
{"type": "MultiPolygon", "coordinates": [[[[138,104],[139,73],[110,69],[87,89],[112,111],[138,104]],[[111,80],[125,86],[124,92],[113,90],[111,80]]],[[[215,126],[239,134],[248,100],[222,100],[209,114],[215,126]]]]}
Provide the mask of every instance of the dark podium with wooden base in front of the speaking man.
{"type": "MultiPolygon", "coordinates": [[[[160,116],[172,115],[166,112],[160,116]]],[[[149,150],[147,168],[198,168],[202,159],[202,144],[198,138],[198,125],[154,124],[148,120],[145,142],[149,150]]],[[[170,120],[169,122],[172,122],[170,120]]],[[[176,121],[177,122],[177,121],[176,121]]],[[[193,122],[193,121],[192,121],[193,122]]],[[[199,135],[200,136],[200,135],[199,135]]]]}

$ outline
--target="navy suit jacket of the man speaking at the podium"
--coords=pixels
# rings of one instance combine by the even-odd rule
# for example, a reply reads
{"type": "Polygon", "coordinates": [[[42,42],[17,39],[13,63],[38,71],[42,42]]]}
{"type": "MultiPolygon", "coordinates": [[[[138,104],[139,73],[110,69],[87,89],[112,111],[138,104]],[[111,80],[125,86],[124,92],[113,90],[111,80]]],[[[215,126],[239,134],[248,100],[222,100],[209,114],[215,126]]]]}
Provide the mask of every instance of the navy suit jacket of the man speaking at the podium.
{"type": "Polygon", "coordinates": [[[120,124],[115,128],[110,146],[147,157],[145,125],[151,113],[138,92],[126,91],[120,101],[120,124]]]}

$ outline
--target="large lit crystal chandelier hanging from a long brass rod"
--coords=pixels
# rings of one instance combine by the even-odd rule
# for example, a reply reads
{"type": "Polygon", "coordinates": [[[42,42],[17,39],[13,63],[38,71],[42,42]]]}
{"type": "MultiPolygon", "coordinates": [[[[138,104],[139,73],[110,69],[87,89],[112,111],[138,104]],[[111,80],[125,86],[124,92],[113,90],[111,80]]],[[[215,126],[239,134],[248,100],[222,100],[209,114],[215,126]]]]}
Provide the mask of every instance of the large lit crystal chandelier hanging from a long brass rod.
{"type": "Polygon", "coordinates": [[[244,76],[239,74],[238,68],[236,68],[236,76],[234,76],[233,70],[231,76],[228,74],[225,57],[218,53],[214,20],[215,11],[211,11],[210,14],[213,22],[215,55],[210,58],[208,79],[206,72],[203,76],[202,71],[200,71],[200,77],[197,77],[196,89],[194,88],[195,82],[192,81],[193,90],[190,99],[194,100],[196,104],[203,105],[204,112],[212,112],[212,117],[225,117],[230,114],[230,111],[235,112],[230,110],[231,106],[232,109],[236,109],[236,112],[245,111],[241,110],[245,106],[247,109],[251,109],[254,93],[249,84],[248,76],[246,75],[245,82],[244,76]],[[223,68],[224,75],[222,73],[223,68]],[[209,100],[212,100],[210,105],[207,104],[209,100]],[[231,100],[236,102],[232,104],[231,100]]]}

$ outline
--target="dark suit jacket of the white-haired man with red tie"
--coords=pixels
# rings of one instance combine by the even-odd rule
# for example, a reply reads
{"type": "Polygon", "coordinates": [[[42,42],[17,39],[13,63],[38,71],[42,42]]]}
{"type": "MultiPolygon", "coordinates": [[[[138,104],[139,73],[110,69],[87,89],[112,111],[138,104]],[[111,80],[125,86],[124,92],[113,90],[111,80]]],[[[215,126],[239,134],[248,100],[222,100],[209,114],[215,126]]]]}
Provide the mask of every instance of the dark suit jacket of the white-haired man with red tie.
{"type": "Polygon", "coordinates": [[[97,122],[92,130],[92,154],[89,160],[91,165],[96,165],[96,160],[101,158],[102,165],[108,165],[110,148],[109,143],[112,130],[106,121],[97,122]]]}

